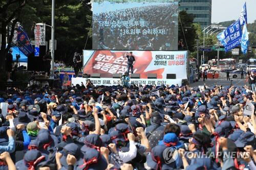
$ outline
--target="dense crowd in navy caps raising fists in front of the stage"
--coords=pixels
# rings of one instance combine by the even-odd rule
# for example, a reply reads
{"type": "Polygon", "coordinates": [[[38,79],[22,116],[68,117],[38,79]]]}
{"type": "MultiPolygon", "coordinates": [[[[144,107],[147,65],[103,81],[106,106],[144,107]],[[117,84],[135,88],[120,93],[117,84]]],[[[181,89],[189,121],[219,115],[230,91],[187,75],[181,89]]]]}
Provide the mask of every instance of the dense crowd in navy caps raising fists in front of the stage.
{"type": "Polygon", "coordinates": [[[256,119],[244,110],[256,94],[200,88],[8,88],[0,92],[0,168],[255,169],[256,119]]]}

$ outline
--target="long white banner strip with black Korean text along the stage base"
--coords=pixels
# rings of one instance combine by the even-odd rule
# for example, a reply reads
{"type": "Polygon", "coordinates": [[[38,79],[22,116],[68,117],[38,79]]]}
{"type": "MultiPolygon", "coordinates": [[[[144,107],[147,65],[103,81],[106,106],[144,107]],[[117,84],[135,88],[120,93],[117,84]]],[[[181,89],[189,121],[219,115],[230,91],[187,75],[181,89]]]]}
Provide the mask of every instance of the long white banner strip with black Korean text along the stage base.
{"type": "MultiPolygon", "coordinates": [[[[114,78],[89,78],[94,86],[97,85],[104,85],[104,86],[113,86],[113,85],[121,85],[120,79],[114,79],[114,78]]],[[[81,82],[83,82],[84,85],[86,85],[86,78],[72,78],[72,84],[81,85],[81,82]]],[[[131,79],[129,84],[136,84],[136,85],[176,85],[179,86],[182,85],[183,80],[182,79],[131,79]]]]}

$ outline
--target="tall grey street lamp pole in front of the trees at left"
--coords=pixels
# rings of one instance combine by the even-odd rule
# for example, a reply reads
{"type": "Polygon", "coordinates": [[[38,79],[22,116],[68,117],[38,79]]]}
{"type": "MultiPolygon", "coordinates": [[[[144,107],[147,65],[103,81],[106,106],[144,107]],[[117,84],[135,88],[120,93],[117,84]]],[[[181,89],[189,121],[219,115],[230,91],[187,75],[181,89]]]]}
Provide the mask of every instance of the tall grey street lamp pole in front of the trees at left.
{"type": "Polygon", "coordinates": [[[52,26],[46,25],[45,23],[36,23],[36,26],[48,26],[52,28],[52,50],[51,50],[51,56],[52,56],[52,62],[51,62],[51,68],[52,68],[52,75],[54,74],[54,8],[55,8],[55,0],[52,0],[52,26]]]}

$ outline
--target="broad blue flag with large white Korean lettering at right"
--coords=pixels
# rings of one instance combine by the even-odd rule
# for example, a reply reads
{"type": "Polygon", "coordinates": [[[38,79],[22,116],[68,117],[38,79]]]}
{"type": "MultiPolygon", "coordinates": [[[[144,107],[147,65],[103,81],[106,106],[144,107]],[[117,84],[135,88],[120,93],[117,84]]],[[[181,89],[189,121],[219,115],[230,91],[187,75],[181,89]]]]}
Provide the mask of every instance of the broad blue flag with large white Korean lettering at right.
{"type": "Polygon", "coordinates": [[[226,30],[218,34],[217,38],[224,45],[226,52],[240,45],[242,39],[240,21],[232,23],[226,30]]]}

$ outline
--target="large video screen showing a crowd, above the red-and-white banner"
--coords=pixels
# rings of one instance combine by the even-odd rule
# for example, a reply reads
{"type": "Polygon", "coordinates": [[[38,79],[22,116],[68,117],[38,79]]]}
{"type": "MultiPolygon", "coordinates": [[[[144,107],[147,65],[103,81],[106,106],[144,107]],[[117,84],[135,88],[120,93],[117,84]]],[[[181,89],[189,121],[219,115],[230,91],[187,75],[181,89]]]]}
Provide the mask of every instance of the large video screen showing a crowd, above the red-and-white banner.
{"type": "Polygon", "coordinates": [[[93,14],[94,49],[177,50],[177,42],[178,5],[150,5],[93,14]],[[132,25],[125,26],[123,21],[131,21],[132,25]],[[115,26],[111,25],[113,22],[115,26]]]}

